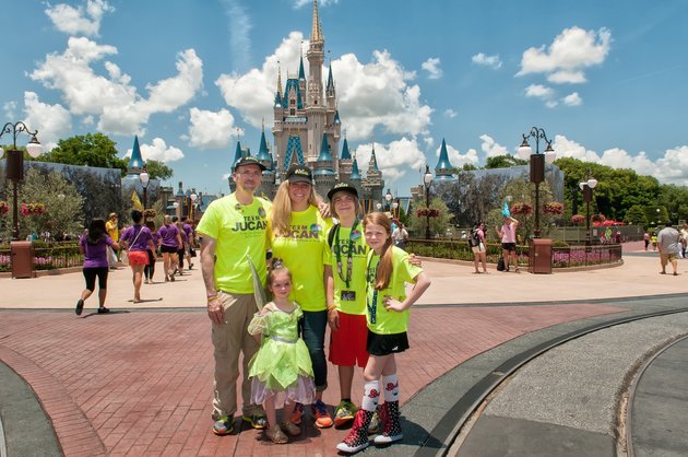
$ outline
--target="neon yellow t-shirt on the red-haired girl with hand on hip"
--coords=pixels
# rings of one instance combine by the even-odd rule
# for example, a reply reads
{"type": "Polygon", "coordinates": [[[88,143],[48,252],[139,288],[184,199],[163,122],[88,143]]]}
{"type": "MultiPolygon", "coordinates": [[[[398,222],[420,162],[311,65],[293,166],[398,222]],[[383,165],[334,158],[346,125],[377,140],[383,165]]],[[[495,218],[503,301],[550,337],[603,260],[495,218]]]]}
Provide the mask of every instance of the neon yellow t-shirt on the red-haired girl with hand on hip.
{"type": "Polygon", "coordinates": [[[368,295],[366,297],[368,328],[370,331],[378,335],[402,333],[407,330],[408,309],[396,312],[384,308],[384,295],[391,295],[392,298],[403,302],[406,298],[406,283],[414,282],[414,278],[423,271],[422,268],[414,267],[408,262],[408,254],[406,254],[405,250],[396,246],[391,246],[390,249],[393,249],[392,278],[390,279],[389,286],[382,291],[375,290],[376,273],[378,263],[380,262],[380,256],[375,254],[373,250],[368,253],[368,295]],[[372,321],[372,316],[375,316],[375,323],[372,321]]]}

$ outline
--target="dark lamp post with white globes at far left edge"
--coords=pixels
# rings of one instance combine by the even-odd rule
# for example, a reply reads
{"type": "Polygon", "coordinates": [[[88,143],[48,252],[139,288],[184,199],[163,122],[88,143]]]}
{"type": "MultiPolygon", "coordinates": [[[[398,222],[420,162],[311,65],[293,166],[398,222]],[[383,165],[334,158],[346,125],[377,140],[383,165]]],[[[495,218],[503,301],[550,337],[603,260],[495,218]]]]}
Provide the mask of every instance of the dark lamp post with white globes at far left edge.
{"type": "MultiPolygon", "coordinates": [[[[8,122],[2,127],[0,138],[4,133],[12,133],[12,149],[8,151],[7,155],[7,178],[12,181],[12,239],[19,239],[19,184],[24,180],[24,154],[16,150],[16,136],[21,132],[31,137],[28,144],[26,144],[28,155],[35,159],[43,152],[43,147],[36,138],[38,130],[32,132],[21,120],[14,124],[8,122]]],[[[3,153],[4,150],[0,148],[0,155],[3,153]]]]}

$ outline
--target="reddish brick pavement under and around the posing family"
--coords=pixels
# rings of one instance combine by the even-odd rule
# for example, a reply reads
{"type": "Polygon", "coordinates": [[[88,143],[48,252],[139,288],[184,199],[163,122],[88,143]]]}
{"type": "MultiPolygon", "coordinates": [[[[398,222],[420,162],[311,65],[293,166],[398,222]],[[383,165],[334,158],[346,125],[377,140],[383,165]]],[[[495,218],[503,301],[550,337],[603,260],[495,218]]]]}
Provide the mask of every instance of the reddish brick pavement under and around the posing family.
{"type": "MultiPolygon", "coordinates": [[[[402,402],[461,362],[543,327],[617,313],[606,305],[427,307],[412,317],[412,349],[399,358],[402,402]]],[[[334,455],[346,431],[312,425],[287,446],[260,432],[210,432],[213,360],[202,312],[5,310],[0,360],[43,402],[68,456],[334,455]]],[[[330,366],[328,405],[339,402],[330,366]]],[[[361,394],[360,372],[354,398],[361,394]]]]}

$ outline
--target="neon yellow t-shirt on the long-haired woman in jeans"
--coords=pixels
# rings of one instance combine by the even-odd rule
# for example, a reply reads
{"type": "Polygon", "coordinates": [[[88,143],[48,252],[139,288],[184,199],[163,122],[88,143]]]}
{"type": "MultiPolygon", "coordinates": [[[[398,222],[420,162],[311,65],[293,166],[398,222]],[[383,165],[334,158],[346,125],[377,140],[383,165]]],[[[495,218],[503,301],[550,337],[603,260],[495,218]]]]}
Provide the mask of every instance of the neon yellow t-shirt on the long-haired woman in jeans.
{"type": "Polygon", "coordinates": [[[331,219],[316,207],[293,211],[287,236],[271,236],[272,256],[281,258],[292,272],[289,298],[307,312],[327,309],[324,266],[331,265],[327,233],[331,219]]]}

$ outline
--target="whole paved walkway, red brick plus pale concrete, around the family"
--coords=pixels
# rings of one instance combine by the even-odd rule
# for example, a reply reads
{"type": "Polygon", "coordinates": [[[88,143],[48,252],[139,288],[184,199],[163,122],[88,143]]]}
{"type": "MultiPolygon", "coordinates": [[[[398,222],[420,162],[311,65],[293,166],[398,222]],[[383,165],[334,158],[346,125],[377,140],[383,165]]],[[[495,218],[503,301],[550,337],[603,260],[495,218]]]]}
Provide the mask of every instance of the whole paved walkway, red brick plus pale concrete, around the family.
{"type": "MultiPolygon", "coordinates": [[[[656,253],[625,259],[618,268],[551,276],[494,269],[473,274],[472,266],[426,261],[432,286],[414,308],[412,349],[399,358],[404,415],[411,417],[415,400],[478,354],[542,329],[628,313],[627,301],[619,297],[687,289],[686,261],[681,276],[672,277],[659,274],[656,253]],[[614,300],[601,302],[608,298],[614,300]]],[[[274,446],[252,430],[223,438],[210,433],[213,362],[198,270],[175,283],[144,284],[142,296],[155,301],[137,305],[128,302],[131,273],[115,271],[109,315],[88,313],[96,306],[92,297],[84,314],[74,316],[82,288],[80,273],[0,279],[0,361],[36,394],[66,455],[335,454],[346,431],[307,425],[287,446],[274,446]]],[[[335,373],[331,366],[328,405],[339,402],[335,373]]],[[[361,384],[357,373],[355,399],[361,384]]],[[[16,405],[0,401],[5,432],[16,405]]],[[[423,429],[427,434],[432,425],[423,429]]],[[[410,430],[407,436],[413,435],[410,430]]]]}

